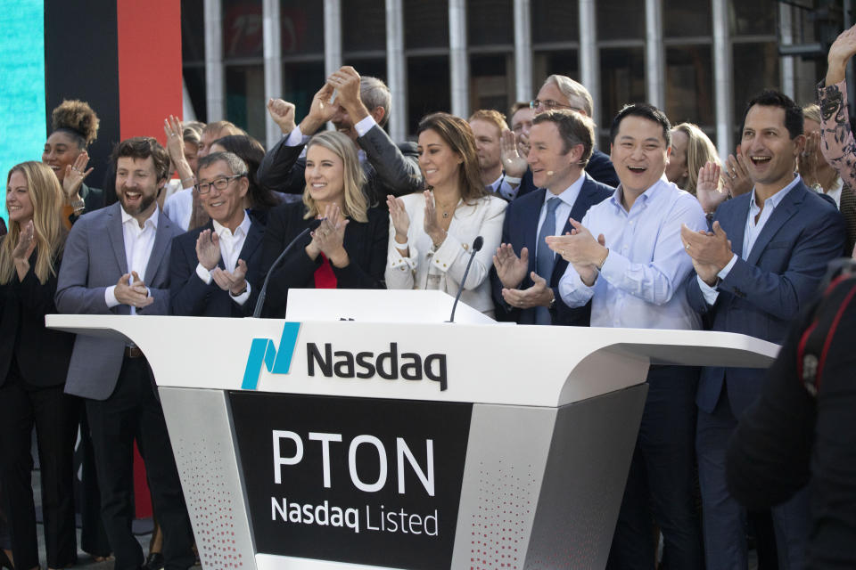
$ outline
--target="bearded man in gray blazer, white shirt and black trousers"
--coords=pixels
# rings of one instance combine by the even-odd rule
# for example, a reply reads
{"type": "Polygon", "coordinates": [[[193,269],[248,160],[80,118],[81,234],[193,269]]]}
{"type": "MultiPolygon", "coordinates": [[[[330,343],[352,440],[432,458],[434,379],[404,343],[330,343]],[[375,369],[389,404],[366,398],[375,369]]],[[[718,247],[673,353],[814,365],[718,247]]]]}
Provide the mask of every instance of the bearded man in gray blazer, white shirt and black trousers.
{"type": "MultiPolygon", "coordinates": [[[[113,166],[119,202],[80,217],[72,228],[56,289],[57,309],[167,314],[170,242],[181,233],[156,201],[167,182],[169,156],[153,138],[136,137],[119,142],[113,166]]],[[[152,380],[138,347],[108,338],[76,339],[65,390],[86,400],[102,518],[117,570],[144,562],[131,533],[135,440],[164,532],[165,568],[183,570],[194,561],[193,533],[152,380]]]]}

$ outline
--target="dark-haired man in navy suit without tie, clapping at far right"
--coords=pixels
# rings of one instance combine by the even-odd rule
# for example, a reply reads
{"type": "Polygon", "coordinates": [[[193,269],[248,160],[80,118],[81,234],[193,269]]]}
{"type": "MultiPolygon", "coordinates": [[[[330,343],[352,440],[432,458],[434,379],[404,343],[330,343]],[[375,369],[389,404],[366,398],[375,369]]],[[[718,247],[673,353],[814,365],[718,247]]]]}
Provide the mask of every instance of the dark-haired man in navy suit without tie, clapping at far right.
{"type": "MultiPolygon", "coordinates": [[[[844,220],[794,174],[802,151],[802,109],[765,91],[746,107],[741,148],[754,188],[724,202],[712,232],[681,231],[695,273],[687,299],[711,330],[782,343],[817,294],[827,263],[844,252],[844,220]]],[[[715,187],[716,176],[700,181],[715,187]]],[[[696,451],[704,503],[707,567],[746,566],[745,509],[729,494],[725,452],[737,419],[761,394],[764,373],[705,368],[698,385],[696,451]]],[[[808,532],[804,491],[772,509],[778,560],[803,566],[808,532]]]]}

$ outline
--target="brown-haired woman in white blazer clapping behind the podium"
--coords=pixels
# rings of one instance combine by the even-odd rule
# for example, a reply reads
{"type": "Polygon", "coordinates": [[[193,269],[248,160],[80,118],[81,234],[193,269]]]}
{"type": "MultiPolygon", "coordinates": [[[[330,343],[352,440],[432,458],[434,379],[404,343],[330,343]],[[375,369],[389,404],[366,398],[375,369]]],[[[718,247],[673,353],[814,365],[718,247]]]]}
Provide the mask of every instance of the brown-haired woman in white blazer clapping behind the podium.
{"type": "Polygon", "coordinates": [[[481,235],[484,245],[475,255],[461,300],[492,317],[488,273],[502,237],[506,202],[485,191],[475,137],[465,120],[432,113],[420,121],[417,133],[419,167],[428,190],[387,197],[386,286],[456,295],[473,240],[481,235]]]}

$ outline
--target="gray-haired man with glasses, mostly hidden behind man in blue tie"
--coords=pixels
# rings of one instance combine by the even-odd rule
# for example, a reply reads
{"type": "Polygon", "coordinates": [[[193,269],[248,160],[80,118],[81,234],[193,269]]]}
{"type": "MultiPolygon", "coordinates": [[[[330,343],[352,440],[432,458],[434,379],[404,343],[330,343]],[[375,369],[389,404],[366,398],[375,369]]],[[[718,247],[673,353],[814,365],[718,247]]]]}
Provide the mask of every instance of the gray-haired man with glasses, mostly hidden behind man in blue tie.
{"type": "MultiPolygon", "coordinates": [[[[529,102],[529,106],[536,114],[547,110],[569,109],[592,120],[595,119],[594,104],[588,89],[571,77],[564,75],[547,77],[544,85],[541,85],[538,95],[529,102]]],[[[595,139],[597,140],[597,136],[595,139]]],[[[605,183],[613,188],[618,186],[618,175],[615,174],[612,161],[609,156],[597,149],[592,151],[591,159],[588,159],[586,173],[599,183],[605,183]]],[[[523,182],[520,184],[517,195],[523,196],[534,190],[535,185],[532,183],[531,172],[527,172],[523,176],[523,182]]]]}

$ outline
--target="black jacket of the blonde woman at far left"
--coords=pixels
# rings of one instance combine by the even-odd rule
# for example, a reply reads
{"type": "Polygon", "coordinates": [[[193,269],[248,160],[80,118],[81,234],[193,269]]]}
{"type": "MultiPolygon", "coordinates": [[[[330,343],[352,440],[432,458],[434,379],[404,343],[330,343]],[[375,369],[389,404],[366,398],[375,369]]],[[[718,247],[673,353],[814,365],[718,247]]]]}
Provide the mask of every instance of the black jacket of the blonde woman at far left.
{"type": "MultiPolygon", "coordinates": [[[[45,328],[45,314],[57,313],[53,305],[57,277],[50,275],[44,285],[38,281],[36,254],[29,257],[23,281],[14,272],[11,281],[0,285],[0,386],[9,376],[12,354],[21,375],[33,386],[61,386],[69,373],[74,335],[45,328]]],[[[59,273],[59,257],[53,267],[59,273]]]]}

